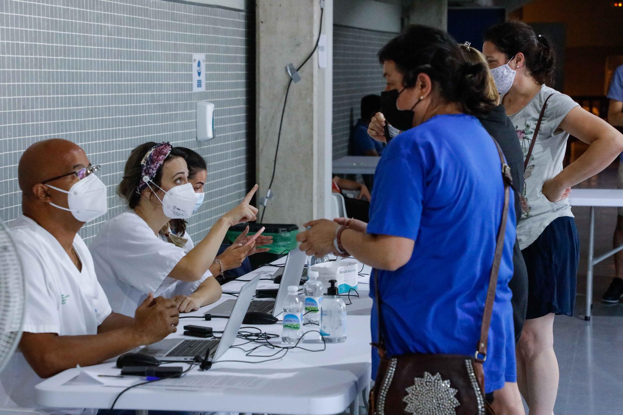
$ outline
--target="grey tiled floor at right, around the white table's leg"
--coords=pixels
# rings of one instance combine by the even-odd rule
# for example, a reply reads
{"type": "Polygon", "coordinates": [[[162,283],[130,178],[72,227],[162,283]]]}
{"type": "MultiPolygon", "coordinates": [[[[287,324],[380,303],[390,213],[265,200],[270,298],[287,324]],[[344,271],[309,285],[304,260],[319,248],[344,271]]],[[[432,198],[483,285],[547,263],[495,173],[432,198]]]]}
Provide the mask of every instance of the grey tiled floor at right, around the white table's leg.
{"type": "MultiPolygon", "coordinates": [[[[582,184],[584,188],[616,188],[616,166],[582,184]]],[[[556,415],[623,414],[623,303],[605,305],[601,295],[614,275],[614,260],[594,270],[593,316],[585,322],[588,208],[574,207],[580,237],[581,260],[575,317],[556,317],[554,348],[560,367],[556,415]]],[[[595,250],[612,249],[617,210],[597,208],[595,250]]]]}

